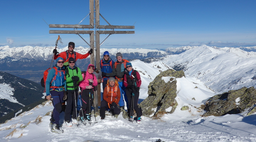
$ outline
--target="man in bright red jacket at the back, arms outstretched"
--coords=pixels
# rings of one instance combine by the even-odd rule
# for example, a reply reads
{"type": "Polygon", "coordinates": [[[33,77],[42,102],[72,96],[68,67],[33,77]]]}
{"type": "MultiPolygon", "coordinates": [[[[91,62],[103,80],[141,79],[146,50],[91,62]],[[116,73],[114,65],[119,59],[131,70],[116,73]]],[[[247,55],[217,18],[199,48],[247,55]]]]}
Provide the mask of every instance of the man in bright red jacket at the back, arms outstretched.
{"type": "Polygon", "coordinates": [[[62,57],[64,59],[64,65],[68,65],[68,60],[70,57],[73,57],[76,61],[77,59],[85,59],[89,55],[92,54],[92,49],[90,49],[86,54],[80,54],[80,53],[75,52],[74,48],[75,48],[75,43],[69,42],[67,51],[57,54],[58,53],[57,49],[54,49],[53,50],[53,54],[54,54],[53,59],[56,60],[58,57],[62,57]]]}

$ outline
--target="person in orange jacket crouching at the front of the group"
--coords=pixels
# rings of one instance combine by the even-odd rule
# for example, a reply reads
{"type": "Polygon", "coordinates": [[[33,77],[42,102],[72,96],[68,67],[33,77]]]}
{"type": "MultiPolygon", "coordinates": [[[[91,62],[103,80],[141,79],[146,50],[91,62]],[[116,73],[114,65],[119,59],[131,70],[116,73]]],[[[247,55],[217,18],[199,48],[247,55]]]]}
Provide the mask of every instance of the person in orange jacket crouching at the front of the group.
{"type": "Polygon", "coordinates": [[[118,105],[120,100],[120,89],[115,83],[114,77],[110,77],[108,83],[109,84],[103,91],[103,100],[101,101],[100,105],[101,119],[105,119],[106,108],[110,108],[110,111],[113,115],[119,115],[121,113],[121,109],[118,105]]]}

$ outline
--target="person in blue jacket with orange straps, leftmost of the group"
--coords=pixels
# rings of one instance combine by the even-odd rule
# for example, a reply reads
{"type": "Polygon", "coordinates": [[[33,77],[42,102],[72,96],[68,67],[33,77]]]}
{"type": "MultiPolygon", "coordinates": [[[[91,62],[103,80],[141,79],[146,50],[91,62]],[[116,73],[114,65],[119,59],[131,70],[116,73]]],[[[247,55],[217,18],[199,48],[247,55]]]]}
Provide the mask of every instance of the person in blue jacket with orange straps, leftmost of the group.
{"type": "Polygon", "coordinates": [[[54,107],[54,121],[51,122],[51,131],[55,133],[63,133],[63,130],[61,130],[59,126],[59,116],[60,112],[62,112],[64,91],[66,91],[65,67],[63,64],[64,59],[62,57],[58,57],[54,67],[49,70],[46,79],[46,99],[52,100],[54,107]]]}

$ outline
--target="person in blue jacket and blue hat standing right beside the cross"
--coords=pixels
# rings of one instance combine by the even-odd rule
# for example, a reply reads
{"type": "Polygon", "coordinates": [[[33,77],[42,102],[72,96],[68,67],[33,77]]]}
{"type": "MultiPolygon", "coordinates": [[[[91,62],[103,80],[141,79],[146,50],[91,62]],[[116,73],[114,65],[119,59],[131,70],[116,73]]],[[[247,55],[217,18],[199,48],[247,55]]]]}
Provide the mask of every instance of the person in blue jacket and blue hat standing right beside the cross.
{"type": "MultiPolygon", "coordinates": [[[[113,71],[114,61],[110,58],[108,51],[103,53],[103,58],[100,63],[100,68],[102,72],[111,73],[113,71]]],[[[102,77],[102,89],[104,91],[105,87],[107,86],[107,81],[110,76],[102,77]]],[[[101,101],[103,100],[103,93],[101,94],[101,101]]]]}

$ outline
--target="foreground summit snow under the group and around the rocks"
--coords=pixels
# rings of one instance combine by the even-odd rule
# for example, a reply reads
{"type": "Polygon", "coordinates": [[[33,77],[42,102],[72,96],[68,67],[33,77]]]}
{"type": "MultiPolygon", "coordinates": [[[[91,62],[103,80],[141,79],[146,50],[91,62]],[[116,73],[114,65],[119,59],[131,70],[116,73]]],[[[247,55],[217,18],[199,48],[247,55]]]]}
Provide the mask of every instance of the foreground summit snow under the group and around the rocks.
{"type": "MultiPolygon", "coordinates": [[[[140,61],[132,61],[133,67],[142,67],[140,61]]],[[[160,63],[154,63],[160,64],[160,63]]],[[[151,67],[151,66],[150,66],[151,67]]],[[[152,70],[147,70],[154,73],[152,70]]],[[[143,76],[143,75],[142,75],[143,76]]],[[[155,77],[153,74],[150,76],[155,77]]],[[[143,77],[144,81],[149,76],[143,77]]],[[[148,78],[149,79],[149,78],[148,78]]],[[[166,82],[170,78],[163,77],[166,82]]],[[[246,116],[227,114],[222,117],[202,117],[204,111],[199,107],[215,93],[194,77],[174,78],[177,81],[178,106],[174,113],[165,114],[159,120],[142,116],[142,122],[131,123],[122,117],[106,116],[98,123],[80,124],[67,127],[62,126],[63,134],[50,132],[49,113],[53,110],[51,101],[24,112],[4,124],[0,124],[1,142],[155,142],[159,139],[165,142],[254,142],[256,141],[255,114],[246,116]],[[189,110],[182,111],[182,106],[189,110]],[[48,115],[46,115],[48,113],[48,115]]],[[[149,79],[150,80],[150,79],[149,79]]],[[[145,83],[146,84],[146,83],[145,83]]],[[[146,91],[143,83],[142,90],[146,91]]],[[[143,92],[144,92],[143,91],[143,92]]],[[[238,102],[239,99],[236,100],[238,102]]],[[[156,109],[156,108],[155,108],[156,109]]],[[[166,110],[171,110],[171,107],[166,110]]],[[[92,113],[92,120],[95,117],[92,113]]],[[[108,114],[108,113],[107,113],[108,114]]],[[[63,123],[64,113],[61,113],[60,122],[63,123]]]]}

